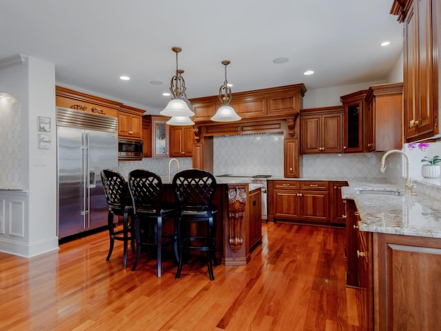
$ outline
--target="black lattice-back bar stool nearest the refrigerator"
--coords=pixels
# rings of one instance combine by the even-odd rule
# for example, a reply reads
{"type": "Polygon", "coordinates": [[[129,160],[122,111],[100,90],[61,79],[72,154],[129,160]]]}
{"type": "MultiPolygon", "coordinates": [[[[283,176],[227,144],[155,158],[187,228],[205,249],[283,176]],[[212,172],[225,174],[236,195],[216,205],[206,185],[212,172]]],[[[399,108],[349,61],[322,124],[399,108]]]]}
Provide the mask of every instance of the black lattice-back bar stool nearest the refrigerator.
{"type": "Polygon", "coordinates": [[[107,201],[109,213],[107,215],[107,226],[110,235],[110,248],[106,261],[112,255],[115,240],[124,242],[123,268],[127,265],[127,243],[131,241],[132,252],[134,252],[134,235],[132,228],[133,206],[128,190],[127,182],[119,172],[113,170],[101,170],[101,181],[103,182],[104,195],[107,201]],[[114,216],[123,217],[123,230],[115,231],[114,216]],[[130,219],[130,221],[129,221],[130,219]]]}

